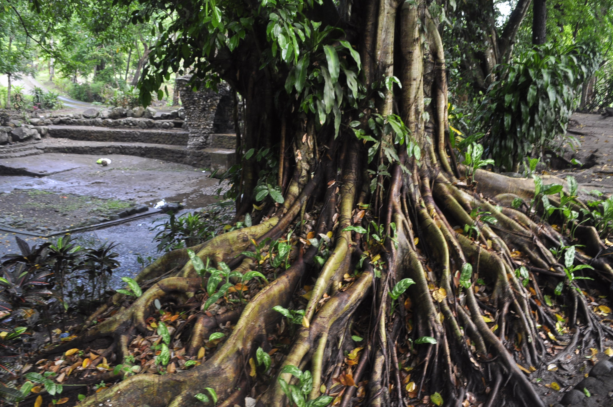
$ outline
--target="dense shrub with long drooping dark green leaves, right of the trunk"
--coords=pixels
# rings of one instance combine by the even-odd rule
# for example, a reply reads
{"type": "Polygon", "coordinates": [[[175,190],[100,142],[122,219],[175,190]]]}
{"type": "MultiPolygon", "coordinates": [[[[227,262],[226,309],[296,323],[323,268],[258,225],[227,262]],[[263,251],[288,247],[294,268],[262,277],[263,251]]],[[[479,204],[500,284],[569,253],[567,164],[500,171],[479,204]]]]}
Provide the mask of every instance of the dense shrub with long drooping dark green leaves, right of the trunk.
{"type": "Polygon", "coordinates": [[[475,131],[488,133],[487,150],[498,165],[517,170],[530,153],[555,149],[566,134],[581,83],[598,66],[598,55],[584,45],[541,45],[511,64],[499,66],[501,78],[490,85],[475,131]]]}

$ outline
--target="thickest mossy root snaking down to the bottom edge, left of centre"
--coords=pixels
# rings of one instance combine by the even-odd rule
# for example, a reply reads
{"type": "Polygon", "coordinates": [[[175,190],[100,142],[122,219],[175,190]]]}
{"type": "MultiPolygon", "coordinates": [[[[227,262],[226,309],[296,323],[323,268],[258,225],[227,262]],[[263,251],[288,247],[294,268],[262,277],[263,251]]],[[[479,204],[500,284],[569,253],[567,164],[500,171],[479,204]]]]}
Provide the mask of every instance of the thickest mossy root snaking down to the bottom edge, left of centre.
{"type": "Polygon", "coordinates": [[[86,398],[82,406],[142,406],[143,400],[148,400],[149,407],[196,406],[202,403],[194,396],[205,387],[215,389],[219,400],[230,397],[254,344],[264,337],[267,325],[279,316],[272,307],[287,306],[304,268],[304,262],[299,257],[283,275],[264,287],[245,306],[226,343],[199,367],[172,375],[131,376],[103,393],[86,398]]]}

